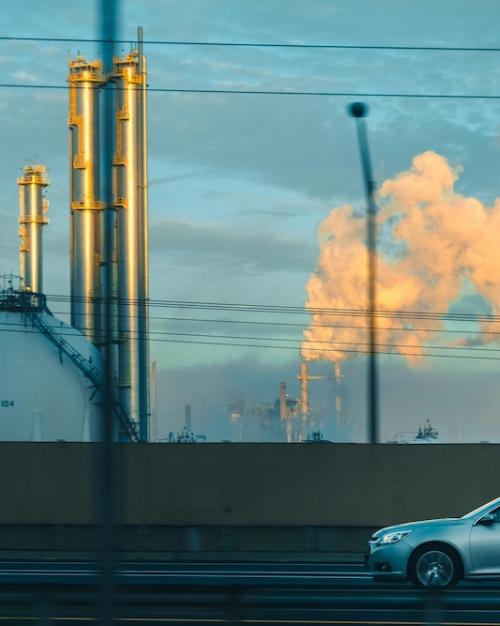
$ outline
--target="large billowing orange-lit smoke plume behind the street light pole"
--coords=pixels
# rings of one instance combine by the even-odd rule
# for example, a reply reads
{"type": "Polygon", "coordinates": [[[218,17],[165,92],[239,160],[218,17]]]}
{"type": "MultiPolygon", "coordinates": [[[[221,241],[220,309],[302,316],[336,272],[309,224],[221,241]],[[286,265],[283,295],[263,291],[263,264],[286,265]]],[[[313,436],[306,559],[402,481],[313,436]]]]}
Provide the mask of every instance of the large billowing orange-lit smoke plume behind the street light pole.
{"type": "MultiPolygon", "coordinates": [[[[500,199],[485,206],[457,193],[459,174],[443,156],[424,152],[409,170],[379,188],[377,310],[445,313],[464,288],[472,288],[493,313],[500,311],[500,199]]],[[[340,315],[367,308],[365,214],[348,205],[333,209],[320,224],[318,238],[319,259],[306,287],[311,324],[304,331],[302,356],[339,362],[368,350],[366,316],[340,315]],[[325,308],[332,312],[315,311],[325,308]]],[[[379,317],[378,350],[422,362],[425,345],[444,323],[379,317]]],[[[499,330],[492,324],[482,322],[481,330],[499,330]]],[[[494,337],[483,335],[482,341],[494,337]]]]}

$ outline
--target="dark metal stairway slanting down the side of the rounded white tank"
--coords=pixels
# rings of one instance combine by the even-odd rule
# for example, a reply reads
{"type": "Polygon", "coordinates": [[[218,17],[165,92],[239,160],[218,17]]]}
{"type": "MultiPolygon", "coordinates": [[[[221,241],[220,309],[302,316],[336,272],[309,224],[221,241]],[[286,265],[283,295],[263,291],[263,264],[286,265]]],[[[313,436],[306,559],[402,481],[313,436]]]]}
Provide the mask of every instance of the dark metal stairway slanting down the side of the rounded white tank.
{"type": "MultiPolygon", "coordinates": [[[[48,309],[45,312],[52,315],[48,309]]],[[[64,339],[64,337],[62,337],[53,326],[48,324],[41,315],[31,313],[30,316],[33,324],[78,367],[82,374],[88,378],[90,382],[95,385],[95,387],[101,389],[103,382],[101,380],[99,370],[95,367],[95,365],[93,365],[89,359],[82,356],[78,350],[73,348],[73,346],[66,341],[66,339],[64,339]]],[[[114,400],[113,405],[114,411],[118,416],[120,424],[124,428],[127,437],[130,441],[138,443],[139,435],[137,433],[136,425],[130,420],[124,407],[121,406],[119,402],[114,400]]]]}

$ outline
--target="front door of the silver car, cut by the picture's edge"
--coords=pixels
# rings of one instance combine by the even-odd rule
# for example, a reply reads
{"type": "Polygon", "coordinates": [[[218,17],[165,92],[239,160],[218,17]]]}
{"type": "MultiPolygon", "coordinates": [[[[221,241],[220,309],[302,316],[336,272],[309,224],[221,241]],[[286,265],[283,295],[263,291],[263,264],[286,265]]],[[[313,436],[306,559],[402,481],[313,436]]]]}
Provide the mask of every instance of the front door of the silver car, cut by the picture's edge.
{"type": "Polygon", "coordinates": [[[495,516],[493,523],[481,524],[478,520],[471,529],[471,573],[500,576],[500,507],[490,514],[495,516]]]}

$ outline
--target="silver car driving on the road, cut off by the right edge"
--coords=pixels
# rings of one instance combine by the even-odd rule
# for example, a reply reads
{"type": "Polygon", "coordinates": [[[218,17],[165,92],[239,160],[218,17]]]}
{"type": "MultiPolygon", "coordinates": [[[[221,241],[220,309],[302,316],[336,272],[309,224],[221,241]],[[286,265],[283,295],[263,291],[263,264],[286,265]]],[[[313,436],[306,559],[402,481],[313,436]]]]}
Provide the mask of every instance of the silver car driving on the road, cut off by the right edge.
{"type": "Polygon", "coordinates": [[[460,579],[500,578],[500,498],[460,518],[398,524],[369,541],[375,580],[448,587],[460,579]]]}

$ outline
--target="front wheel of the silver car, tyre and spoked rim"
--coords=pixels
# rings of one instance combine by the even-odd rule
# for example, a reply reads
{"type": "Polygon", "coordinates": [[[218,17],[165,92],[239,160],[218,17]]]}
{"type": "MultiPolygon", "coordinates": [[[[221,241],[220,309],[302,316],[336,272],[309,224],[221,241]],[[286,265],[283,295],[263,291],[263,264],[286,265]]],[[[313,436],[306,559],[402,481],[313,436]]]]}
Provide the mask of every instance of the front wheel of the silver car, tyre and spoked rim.
{"type": "Polygon", "coordinates": [[[433,589],[456,585],[461,571],[456,552],[441,545],[419,548],[413,553],[408,567],[409,578],[415,585],[433,589]]]}

